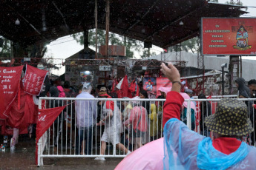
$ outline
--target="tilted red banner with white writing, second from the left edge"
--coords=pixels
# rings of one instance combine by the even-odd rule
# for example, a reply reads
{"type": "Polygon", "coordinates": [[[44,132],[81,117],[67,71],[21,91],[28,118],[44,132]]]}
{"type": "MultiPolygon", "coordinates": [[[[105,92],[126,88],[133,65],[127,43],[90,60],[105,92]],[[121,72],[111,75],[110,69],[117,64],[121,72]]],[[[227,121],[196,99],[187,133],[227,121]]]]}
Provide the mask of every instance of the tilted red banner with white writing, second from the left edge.
{"type": "Polygon", "coordinates": [[[30,95],[39,95],[45,81],[47,71],[37,69],[27,64],[24,78],[24,91],[30,95]]]}

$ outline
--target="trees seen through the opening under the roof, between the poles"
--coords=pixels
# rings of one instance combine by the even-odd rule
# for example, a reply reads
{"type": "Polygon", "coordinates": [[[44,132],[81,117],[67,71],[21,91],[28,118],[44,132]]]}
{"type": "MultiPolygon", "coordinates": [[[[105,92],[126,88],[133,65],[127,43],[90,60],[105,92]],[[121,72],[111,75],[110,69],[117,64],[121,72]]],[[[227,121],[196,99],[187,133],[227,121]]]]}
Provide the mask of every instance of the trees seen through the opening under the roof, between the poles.
{"type": "MultiPolygon", "coordinates": [[[[97,37],[97,45],[98,47],[102,44],[105,44],[105,30],[97,30],[98,37],[97,37]]],[[[76,41],[83,45],[84,44],[84,34],[83,33],[76,33],[72,35],[76,41]]],[[[117,35],[115,33],[109,33],[109,42],[111,45],[122,45],[126,47],[126,56],[127,58],[134,58],[134,50],[141,51],[143,48],[142,42],[117,35]]],[[[95,47],[95,29],[89,30],[89,44],[92,47],[95,47]]]]}

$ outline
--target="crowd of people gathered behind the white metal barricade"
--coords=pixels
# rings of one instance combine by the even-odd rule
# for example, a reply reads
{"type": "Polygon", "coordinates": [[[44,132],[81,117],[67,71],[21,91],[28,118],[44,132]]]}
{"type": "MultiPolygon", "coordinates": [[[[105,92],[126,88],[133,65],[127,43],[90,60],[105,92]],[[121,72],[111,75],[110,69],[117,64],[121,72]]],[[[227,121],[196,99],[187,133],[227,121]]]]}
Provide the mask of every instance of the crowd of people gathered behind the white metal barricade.
{"type": "MultiPolygon", "coordinates": [[[[256,81],[249,81],[248,86],[243,78],[238,78],[236,81],[238,87],[239,98],[255,98],[254,92],[256,90],[256,81]]],[[[161,95],[159,99],[165,99],[171,87],[160,87],[158,89],[161,95]]],[[[194,99],[194,92],[191,89],[186,89],[180,95],[184,100],[194,99]]],[[[116,146],[123,154],[130,154],[136,149],[139,149],[146,143],[154,141],[163,137],[163,106],[164,101],[151,102],[142,101],[140,99],[147,99],[148,92],[140,88],[140,95],[134,98],[124,97],[123,101],[108,101],[105,98],[117,98],[116,94],[111,93],[110,90],[101,86],[98,90],[93,90],[91,83],[84,83],[79,86],[79,92],[73,89],[68,81],[65,81],[63,86],[51,86],[51,97],[62,98],[97,98],[97,100],[77,100],[75,103],[71,101],[50,101],[50,107],[66,106],[65,112],[69,113],[69,117],[73,120],[72,126],[72,146],[75,147],[76,154],[93,154],[93,132],[97,133],[100,140],[96,143],[100,146],[101,157],[96,157],[96,160],[105,160],[104,154],[108,143],[116,146]],[[103,100],[102,100],[103,99],[103,100]],[[114,117],[116,118],[114,122],[114,117]],[[115,124],[115,125],[114,125],[115,124]],[[114,129],[114,127],[116,129],[114,129]],[[76,130],[75,130],[76,129],[76,130]],[[76,141],[75,141],[76,139],[76,141]]],[[[206,99],[206,95],[198,95],[199,99],[206,99]]],[[[254,107],[256,105],[253,101],[246,101],[249,108],[249,118],[255,121],[253,116],[254,107]]],[[[191,130],[195,130],[196,125],[196,105],[194,101],[189,103],[191,109],[191,130]]],[[[180,109],[180,120],[187,124],[187,108],[188,102],[184,101],[180,109]]],[[[209,101],[200,101],[200,135],[206,137],[210,136],[209,126],[206,126],[206,118],[212,115],[211,103],[209,101]]],[[[59,133],[61,127],[59,124],[65,119],[67,115],[59,115],[56,119],[55,145],[59,142],[59,133]]],[[[253,135],[253,133],[252,133],[253,135]]],[[[254,137],[254,135],[253,135],[254,137]]],[[[251,140],[253,137],[248,137],[251,140]]],[[[95,140],[95,139],[94,139],[95,140]]]]}

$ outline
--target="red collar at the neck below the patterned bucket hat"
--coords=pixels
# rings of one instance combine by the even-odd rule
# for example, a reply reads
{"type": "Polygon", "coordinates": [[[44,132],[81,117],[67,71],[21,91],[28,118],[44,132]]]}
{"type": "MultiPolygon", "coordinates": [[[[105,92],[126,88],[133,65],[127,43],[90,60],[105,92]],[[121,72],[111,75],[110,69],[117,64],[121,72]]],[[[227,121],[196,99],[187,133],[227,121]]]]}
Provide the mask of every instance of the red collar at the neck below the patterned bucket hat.
{"type": "Polygon", "coordinates": [[[214,149],[222,152],[223,154],[232,154],[241,145],[241,141],[233,137],[219,137],[212,140],[212,146],[214,149]]]}

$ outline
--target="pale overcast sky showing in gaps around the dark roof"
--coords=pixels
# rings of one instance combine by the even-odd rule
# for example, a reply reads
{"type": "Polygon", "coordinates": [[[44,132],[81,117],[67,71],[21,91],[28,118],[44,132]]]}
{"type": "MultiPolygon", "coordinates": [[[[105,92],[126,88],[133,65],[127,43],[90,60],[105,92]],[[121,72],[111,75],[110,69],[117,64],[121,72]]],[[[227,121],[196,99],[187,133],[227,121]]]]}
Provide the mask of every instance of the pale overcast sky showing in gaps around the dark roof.
{"type": "MultiPolygon", "coordinates": [[[[225,4],[227,0],[219,0],[219,3],[225,4]]],[[[244,15],[243,17],[256,17],[256,1],[255,0],[240,0],[243,3],[243,6],[249,6],[247,12],[248,14],[244,15]]],[[[47,47],[47,53],[45,58],[53,56],[53,58],[68,58],[70,55],[79,52],[82,50],[82,46],[79,45],[70,35],[58,38],[56,41],[52,41],[47,47]]],[[[152,52],[156,52],[159,54],[163,51],[159,47],[153,47],[152,52]]],[[[139,58],[139,53],[136,53],[136,58],[139,58]]],[[[250,58],[250,57],[248,57],[250,58]]],[[[252,57],[251,57],[252,58],[252,57]]],[[[65,72],[64,67],[59,70],[59,72],[53,72],[56,75],[62,75],[65,72]]]]}

